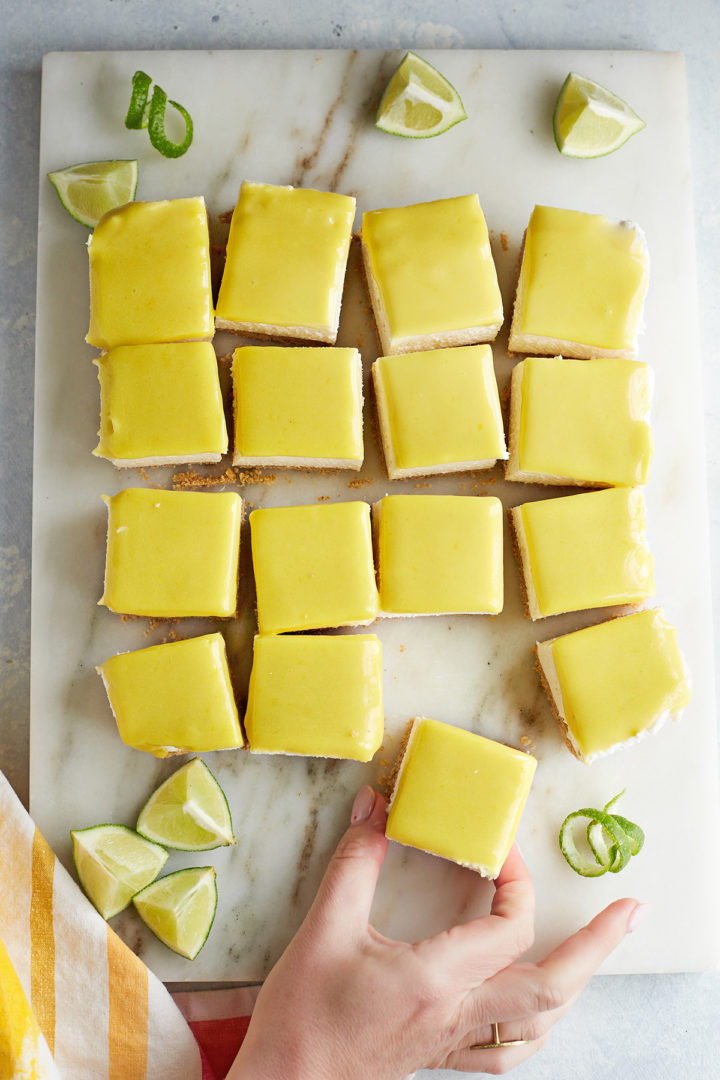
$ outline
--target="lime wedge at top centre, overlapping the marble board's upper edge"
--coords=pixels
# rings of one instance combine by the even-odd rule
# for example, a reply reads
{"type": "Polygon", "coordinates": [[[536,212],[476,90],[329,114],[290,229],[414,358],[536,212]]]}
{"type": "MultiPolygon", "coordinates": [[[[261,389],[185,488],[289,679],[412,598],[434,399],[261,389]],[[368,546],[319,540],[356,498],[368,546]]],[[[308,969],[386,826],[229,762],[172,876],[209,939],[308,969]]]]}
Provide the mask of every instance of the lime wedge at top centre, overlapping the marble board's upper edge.
{"type": "Polygon", "coordinates": [[[466,119],[454,86],[427,60],[407,53],[388,83],[375,124],[390,135],[431,138],[466,119]]]}

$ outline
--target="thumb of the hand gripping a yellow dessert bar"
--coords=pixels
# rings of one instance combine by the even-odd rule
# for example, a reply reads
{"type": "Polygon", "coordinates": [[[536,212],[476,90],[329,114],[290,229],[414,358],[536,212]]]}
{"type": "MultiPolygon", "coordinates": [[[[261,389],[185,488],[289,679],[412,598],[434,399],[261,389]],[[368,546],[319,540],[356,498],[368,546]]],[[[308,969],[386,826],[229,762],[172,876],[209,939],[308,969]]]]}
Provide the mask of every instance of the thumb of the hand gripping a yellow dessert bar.
{"type": "Polygon", "coordinates": [[[388,851],[386,804],[371,787],[355,796],[351,825],[340,840],[308,915],[343,937],[366,930],[380,867],[388,851]]]}

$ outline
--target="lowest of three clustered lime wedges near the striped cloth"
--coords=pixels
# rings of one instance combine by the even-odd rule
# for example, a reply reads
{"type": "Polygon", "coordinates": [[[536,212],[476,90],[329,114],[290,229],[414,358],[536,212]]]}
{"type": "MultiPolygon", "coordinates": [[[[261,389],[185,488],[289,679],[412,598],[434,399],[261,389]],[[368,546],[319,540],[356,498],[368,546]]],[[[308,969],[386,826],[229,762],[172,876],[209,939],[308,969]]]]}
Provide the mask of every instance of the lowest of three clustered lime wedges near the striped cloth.
{"type": "Polygon", "coordinates": [[[155,937],[194,960],[215,918],[215,867],[192,866],[167,874],[133,896],[133,904],[155,937]]]}

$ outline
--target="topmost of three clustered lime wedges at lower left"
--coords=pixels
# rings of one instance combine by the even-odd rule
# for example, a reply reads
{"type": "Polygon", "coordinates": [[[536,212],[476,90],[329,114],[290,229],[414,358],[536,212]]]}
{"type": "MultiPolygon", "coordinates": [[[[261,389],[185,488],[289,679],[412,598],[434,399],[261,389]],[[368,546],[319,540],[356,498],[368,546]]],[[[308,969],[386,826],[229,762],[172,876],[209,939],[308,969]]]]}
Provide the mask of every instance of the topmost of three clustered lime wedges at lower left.
{"type": "Polygon", "coordinates": [[[207,851],[235,842],[225,793],[195,757],[153,792],[137,819],[140,836],[180,851],[207,851]]]}

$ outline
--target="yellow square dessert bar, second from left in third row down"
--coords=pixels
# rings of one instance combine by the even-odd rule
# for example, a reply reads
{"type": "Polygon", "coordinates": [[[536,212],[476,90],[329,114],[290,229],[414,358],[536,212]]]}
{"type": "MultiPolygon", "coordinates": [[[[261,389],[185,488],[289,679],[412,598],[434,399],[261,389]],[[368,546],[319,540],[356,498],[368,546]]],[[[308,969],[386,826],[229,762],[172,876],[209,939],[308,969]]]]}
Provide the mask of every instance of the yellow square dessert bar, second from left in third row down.
{"type": "Polygon", "coordinates": [[[261,634],[377,618],[367,502],[254,510],[250,537],[261,634]]]}

